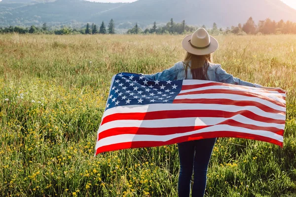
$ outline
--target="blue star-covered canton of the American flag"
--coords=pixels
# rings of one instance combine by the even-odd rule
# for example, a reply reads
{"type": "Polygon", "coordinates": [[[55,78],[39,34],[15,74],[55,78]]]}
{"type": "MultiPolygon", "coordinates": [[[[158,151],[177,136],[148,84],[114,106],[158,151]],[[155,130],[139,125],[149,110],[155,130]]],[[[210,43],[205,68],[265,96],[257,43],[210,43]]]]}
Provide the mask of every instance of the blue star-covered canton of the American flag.
{"type": "Polygon", "coordinates": [[[125,105],[172,103],[182,89],[182,81],[152,81],[141,74],[119,73],[112,81],[105,110],[125,105]]]}

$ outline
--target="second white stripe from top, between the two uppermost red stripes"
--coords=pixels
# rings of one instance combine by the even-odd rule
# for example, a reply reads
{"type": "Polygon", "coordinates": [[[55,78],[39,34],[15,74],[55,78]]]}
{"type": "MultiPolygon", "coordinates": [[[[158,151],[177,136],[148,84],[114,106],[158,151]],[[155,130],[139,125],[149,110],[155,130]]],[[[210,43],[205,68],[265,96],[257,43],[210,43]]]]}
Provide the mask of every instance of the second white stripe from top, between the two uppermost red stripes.
{"type": "MultiPolygon", "coordinates": [[[[247,89],[241,89],[240,86],[238,87],[230,87],[230,86],[207,86],[207,87],[202,87],[202,88],[194,88],[194,89],[189,89],[189,90],[182,90],[180,91],[179,94],[182,94],[182,93],[188,93],[188,92],[194,92],[194,91],[202,91],[202,90],[213,90],[213,89],[219,89],[219,90],[233,90],[233,91],[237,91],[237,92],[242,92],[242,93],[245,93],[245,92],[249,92],[249,93],[253,93],[253,94],[259,94],[259,95],[262,95],[264,97],[268,97],[270,99],[274,99],[274,100],[277,100],[279,102],[283,102],[283,103],[286,103],[286,100],[285,99],[281,99],[281,98],[278,98],[277,96],[280,96],[280,93],[276,94],[276,93],[266,93],[266,92],[262,92],[262,91],[257,91],[257,90],[247,90],[247,89]]],[[[227,93],[225,93],[227,94],[227,93]]],[[[235,95],[233,94],[230,94],[232,95],[232,97],[235,97],[235,95]]]]}

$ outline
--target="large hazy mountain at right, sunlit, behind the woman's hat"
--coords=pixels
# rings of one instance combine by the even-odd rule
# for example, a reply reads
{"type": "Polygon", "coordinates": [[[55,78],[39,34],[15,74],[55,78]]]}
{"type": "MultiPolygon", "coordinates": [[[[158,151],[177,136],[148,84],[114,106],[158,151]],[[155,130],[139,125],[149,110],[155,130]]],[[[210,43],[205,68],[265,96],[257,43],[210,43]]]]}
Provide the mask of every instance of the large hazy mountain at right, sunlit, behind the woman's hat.
{"type": "Polygon", "coordinates": [[[296,10],[281,0],[138,0],[117,9],[97,14],[91,21],[167,22],[170,18],[187,24],[226,27],[270,18],[296,21],[296,10]]]}

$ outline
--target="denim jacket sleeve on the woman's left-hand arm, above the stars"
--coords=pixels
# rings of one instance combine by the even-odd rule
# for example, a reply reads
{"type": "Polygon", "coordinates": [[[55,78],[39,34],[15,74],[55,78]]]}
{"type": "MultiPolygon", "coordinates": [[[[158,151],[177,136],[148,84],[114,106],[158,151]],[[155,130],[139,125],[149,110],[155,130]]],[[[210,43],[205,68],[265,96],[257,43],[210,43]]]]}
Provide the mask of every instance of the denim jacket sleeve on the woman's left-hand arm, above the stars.
{"type": "Polygon", "coordinates": [[[168,69],[163,70],[162,72],[157,72],[155,74],[144,74],[144,76],[150,80],[176,80],[178,71],[178,66],[174,65],[168,69]]]}

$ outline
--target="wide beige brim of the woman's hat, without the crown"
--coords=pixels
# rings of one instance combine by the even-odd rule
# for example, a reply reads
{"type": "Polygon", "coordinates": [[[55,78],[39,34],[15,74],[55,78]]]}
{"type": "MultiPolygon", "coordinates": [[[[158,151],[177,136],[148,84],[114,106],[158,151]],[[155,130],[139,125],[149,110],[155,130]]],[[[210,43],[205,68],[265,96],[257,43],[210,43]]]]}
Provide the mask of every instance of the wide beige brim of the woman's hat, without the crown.
{"type": "Polygon", "coordinates": [[[196,49],[192,47],[189,42],[189,40],[191,39],[191,35],[192,34],[187,35],[182,41],[182,46],[185,49],[185,51],[187,51],[188,53],[191,53],[194,55],[208,55],[210,53],[215,52],[219,47],[218,41],[210,35],[210,39],[211,39],[210,46],[205,49],[196,49]]]}

